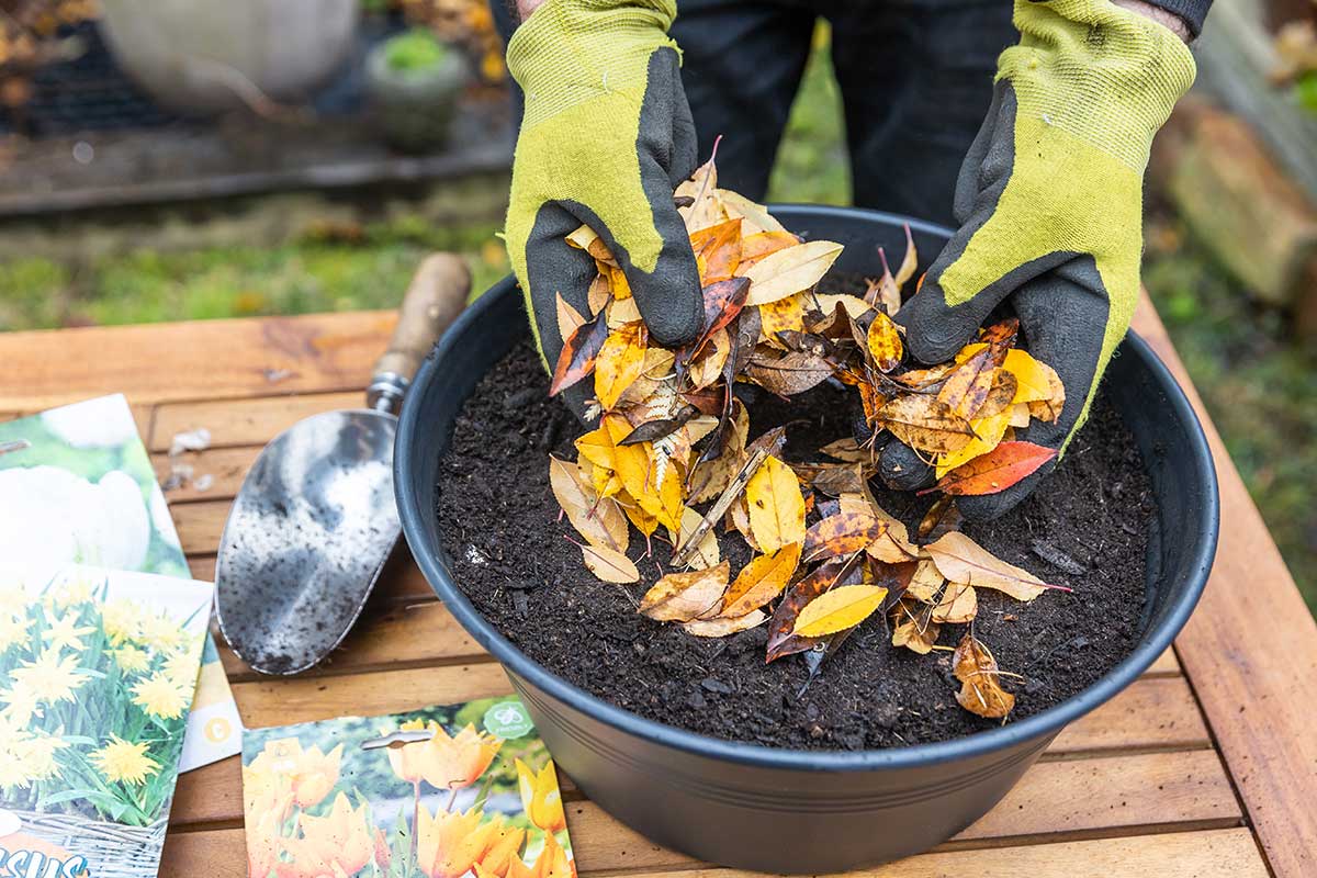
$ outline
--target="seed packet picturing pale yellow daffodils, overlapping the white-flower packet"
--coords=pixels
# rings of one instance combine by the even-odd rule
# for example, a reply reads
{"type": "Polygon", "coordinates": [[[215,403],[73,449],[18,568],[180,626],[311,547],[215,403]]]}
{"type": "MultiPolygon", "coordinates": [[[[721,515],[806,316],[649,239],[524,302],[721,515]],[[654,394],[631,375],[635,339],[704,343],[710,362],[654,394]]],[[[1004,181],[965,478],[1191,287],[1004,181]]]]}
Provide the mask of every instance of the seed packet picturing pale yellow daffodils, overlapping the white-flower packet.
{"type": "Polygon", "coordinates": [[[0,864],[154,875],[215,587],[0,566],[0,864]]]}

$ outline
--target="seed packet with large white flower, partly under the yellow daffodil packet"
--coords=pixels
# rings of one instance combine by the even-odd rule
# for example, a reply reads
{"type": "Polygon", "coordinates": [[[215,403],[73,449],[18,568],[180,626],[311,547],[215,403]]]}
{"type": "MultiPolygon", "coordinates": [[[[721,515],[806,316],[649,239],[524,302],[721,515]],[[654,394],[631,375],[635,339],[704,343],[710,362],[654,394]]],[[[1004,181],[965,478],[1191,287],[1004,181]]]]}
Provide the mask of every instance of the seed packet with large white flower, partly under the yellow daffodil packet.
{"type": "MultiPolygon", "coordinates": [[[[122,395],[0,424],[0,559],[49,578],[68,563],[191,579],[122,395]]],[[[241,721],[211,637],[183,771],[237,753],[241,721]]]]}

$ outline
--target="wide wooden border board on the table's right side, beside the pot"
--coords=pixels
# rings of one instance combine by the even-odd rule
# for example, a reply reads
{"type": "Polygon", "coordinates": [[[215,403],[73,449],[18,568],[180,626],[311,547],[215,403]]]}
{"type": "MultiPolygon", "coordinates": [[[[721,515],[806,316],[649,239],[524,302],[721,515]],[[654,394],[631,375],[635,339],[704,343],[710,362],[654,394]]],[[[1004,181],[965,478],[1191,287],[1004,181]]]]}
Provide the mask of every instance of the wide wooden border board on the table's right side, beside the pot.
{"type": "Polygon", "coordinates": [[[1221,541],[1176,652],[1280,878],[1317,874],[1317,623],[1147,297],[1135,326],[1198,409],[1221,483],[1221,541]]]}

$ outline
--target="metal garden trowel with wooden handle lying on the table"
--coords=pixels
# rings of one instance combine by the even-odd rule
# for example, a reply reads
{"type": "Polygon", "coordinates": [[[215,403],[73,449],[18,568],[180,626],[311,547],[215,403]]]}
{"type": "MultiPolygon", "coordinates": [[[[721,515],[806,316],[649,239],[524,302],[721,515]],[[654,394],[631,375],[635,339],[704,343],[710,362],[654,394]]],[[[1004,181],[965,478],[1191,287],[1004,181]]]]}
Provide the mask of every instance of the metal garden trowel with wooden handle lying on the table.
{"type": "Polygon", "coordinates": [[[337,646],[398,541],[394,432],[407,384],[466,305],[457,257],[421,262],[369,408],[325,412],[271,441],[242,482],[215,567],[220,628],[263,674],[296,674],[337,646]]]}

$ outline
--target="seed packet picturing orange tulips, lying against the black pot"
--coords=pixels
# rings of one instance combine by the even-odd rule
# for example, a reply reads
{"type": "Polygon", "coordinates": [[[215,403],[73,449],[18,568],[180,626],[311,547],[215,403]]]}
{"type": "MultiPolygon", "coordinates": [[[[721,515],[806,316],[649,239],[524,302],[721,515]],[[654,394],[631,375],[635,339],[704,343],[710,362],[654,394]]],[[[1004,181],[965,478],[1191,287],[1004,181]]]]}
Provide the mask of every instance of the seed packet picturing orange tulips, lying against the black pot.
{"type": "Polygon", "coordinates": [[[249,878],[576,878],[514,696],[248,729],[242,796],[249,878]]]}

